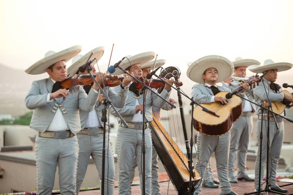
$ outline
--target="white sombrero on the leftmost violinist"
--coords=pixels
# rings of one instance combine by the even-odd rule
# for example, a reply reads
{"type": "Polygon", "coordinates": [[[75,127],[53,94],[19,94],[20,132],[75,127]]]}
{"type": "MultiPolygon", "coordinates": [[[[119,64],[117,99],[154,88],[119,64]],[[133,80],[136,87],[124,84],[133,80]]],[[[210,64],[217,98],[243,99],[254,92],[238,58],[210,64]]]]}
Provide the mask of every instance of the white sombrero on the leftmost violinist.
{"type": "Polygon", "coordinates": [[[80,45],[75,45],[73,47],[59,51],[57,53],[55,51],[48,51],[47,53],[45,53],[45,58],[31,65],[28,69],[25,70],[25,72],[27,74],[45,73],[46,69],[49,68],[52,64],[55,64],[56,62],[59,62],[61,60],[67,62],[71,58],[76,56],[80,51],[80,45]]]}

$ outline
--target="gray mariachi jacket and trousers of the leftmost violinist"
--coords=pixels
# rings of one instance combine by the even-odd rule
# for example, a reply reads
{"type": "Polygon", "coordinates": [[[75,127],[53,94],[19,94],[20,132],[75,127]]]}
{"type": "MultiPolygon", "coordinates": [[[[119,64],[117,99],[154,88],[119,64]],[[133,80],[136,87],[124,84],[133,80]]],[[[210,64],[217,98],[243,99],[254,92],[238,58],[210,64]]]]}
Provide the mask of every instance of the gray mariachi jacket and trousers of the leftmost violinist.
{"type": "MultiPolygon", "coordinates": [[[[89,95],[81,86],[74,86],[63,101],[55,98],[47,103],[46,97],[51,93],[53,82],[51,79],[33,81],[26,98],[25,105],[33,109],[30,127],[44,132],[50,125],[55,113],[53,107],[65,110],[64,119],[73,133],[81,129],[79,109],[89,112],[93,109],[99,93],[93,89],[89,95]]],[[[63,110],[64,111],[64,110],[63,110]]],[[[64,129],[65,130],[65,129],[64,129]]],[[[59,183],[62,194],[74,194],[76,188],[76,168],[78,159],[78,140],[76,136],[65,139],[36,138],[37,187],[38,194],[51,194],[54,185],[56,165],[59,169],[59,183]]]]}

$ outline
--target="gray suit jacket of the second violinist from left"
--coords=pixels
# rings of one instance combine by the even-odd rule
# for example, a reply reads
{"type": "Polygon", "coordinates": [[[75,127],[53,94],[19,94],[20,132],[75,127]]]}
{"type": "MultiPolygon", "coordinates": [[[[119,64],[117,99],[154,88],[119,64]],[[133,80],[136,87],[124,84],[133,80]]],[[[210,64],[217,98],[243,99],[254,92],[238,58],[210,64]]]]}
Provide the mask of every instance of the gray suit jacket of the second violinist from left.
{"type": "MultiPolygon", "coordinates": [[[[111,99],[113,105],[117,108],[123,108],[125,106],[127,96],[128,96],[128,89],[122,89],[119,85],[120,90],[118,91],[118,94],[115,93],[115,91],[112,89],[112,87],[106,87],[106,93],[109,95],[109,98],[111,99]],[[107,92],[109,90],[109,93],[107,92]]],[[[98,120],[101,123],[102,127],[104,123],[101,121],[102,119],[102,109],[104,108],[104,105],[100,105],[100,102],[97,101],[95,105],[95,110],[98,115],[98,120]]],[[[80,121],[81,121],[81,129],[85,128],[86,122],[89,118],[89,112],[80,111],[80,121]]],[[[109,117],[109,116],[108,116],[109,117]]],[[[106,122],[106,129],[110,129],[110,126],[108,126],[108,123],[106,122]]]]}

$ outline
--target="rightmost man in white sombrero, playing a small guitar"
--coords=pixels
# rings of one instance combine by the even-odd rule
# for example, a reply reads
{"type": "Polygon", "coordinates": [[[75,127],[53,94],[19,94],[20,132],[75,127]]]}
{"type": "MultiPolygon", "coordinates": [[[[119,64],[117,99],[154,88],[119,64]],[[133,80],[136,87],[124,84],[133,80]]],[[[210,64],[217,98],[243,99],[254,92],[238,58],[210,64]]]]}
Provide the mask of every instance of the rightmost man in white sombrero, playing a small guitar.
{"type": "MultiPolygon", "coordinates": [[[[266,90],[268,91],[270,101],[284,101],[284,100],[293,100],[291,96],[288,96],[286,94],[278,94],[282,89],[281,87],[274,83],[277,80],[277,72],[285,71],[288,69],[291,69],[292,64],[290,63],[274,63],[271,59],[268,59],[264,62],[263,66],[260,65],[252,65],[249,66],[248,69],[251,72],[254,73],[266,73],[265,76],[263,77],[263,83],[266,87],[266,90]]],[[[259,83],[259,86],[256,86],[255,89],[253,90],[254,97],[256,100],[260,103],[263,104],[264,101],[268,101],[268,98],[266,96],[266,92],[264,89],[264,85],[262,82],[259,83]]],[[[261,131],[261,110],[259,107],[256,108],[257,111],[256,113],[258,114],[258,120],[256,122],[256,134],[258,138],[258,146],[260,145],[260,131],[261,131]]],[[[264,112],[264,123],[267,123],[267,115],[266,112],[264,112]]],[[[281,113],[281,115],[285,115],[285,112],[281,113]]],[[[276,128],[274,118],[270,117],[269,121],[269,129],[270,129],[270,134],[269,134],[269,140],[270,140],[270,155],[271,155],[271,161],[272,161],[272,172],[269,170],[269,175],[270,175],[270,185],[271,185],[271,190],[277,191],[277,192],[288,192],[286,189],[280,188],[277,183],[276,183],[276,171],[277,171],[277,165],[278,161],[280,158],[280,153],[281,153],[281,147],[283,144],[284,140],[284,122],[283,118],[276,116],[277,124],[279,126],[279,129],[276,128]]],[[[267,150],[267,132],[266,132],[266,126],[263,124],[262,128],[262,162],[261,162],[261,178],[263,178],[264,174],[264,166],[266,164],[266,150],[267,150]]],[[[258,190],[258,183],[259,183],[259,154],[260,154],[260,148],[258,149],[258,153],[256,156],[256,161],[255,161],[255,189],[256,191],[258,190]]]]}

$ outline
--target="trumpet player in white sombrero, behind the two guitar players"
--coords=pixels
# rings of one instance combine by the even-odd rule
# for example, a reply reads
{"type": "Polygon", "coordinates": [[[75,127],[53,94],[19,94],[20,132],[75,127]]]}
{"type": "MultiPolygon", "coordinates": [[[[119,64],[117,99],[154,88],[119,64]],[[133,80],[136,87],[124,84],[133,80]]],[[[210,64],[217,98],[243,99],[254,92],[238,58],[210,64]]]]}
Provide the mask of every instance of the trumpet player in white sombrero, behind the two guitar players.
{"type": "MultiPolygon", "coordinates": [[[[250,65],[259,65],[260,63],[253,59],[236,58],[233,62],[234,74],[237,79],[245,78],[246,69],[250,65]]],[[[232,77],[233,77],[232,76],[232,77]]],[[[238,82],[239,83],[239,82],[238,82]]],[[[231,91],[237,89],[239,84],[230,82],[230,78],[223,83],[224,87],[229,87],[231,91]]],[[[252,90],[248,89],[244,93],[244,98],[254,101],[252,90]]],[[[237,180],[254,181],[246,172],[246,155],[248,151],[248,143],[252,133],[252,113],[255,112],[255,105],[247,100],[242,100],[243,112],[239,119],[234,122],[230,134],[231,144],[229,151],[229,181],[237,183],[237,180]],[[234,176],[234,161],[237,154],[237,179],[234,176]]]]}

